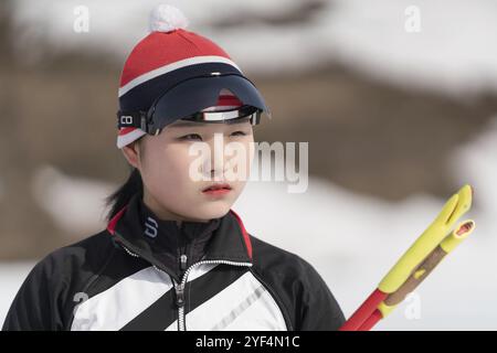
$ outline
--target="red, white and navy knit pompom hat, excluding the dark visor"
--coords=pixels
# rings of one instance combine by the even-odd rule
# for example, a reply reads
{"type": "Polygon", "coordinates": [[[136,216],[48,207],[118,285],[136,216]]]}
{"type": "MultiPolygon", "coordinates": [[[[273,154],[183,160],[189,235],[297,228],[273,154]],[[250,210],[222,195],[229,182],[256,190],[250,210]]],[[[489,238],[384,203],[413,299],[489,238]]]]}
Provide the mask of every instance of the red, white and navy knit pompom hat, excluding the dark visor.
{"type": "MultiPolygon", "coordinates": [[[[133,49],[123,68],[118,90],[120,111],[147,110],[163,92],[190,77],[210,73],[243,75],[219,45],[184,30],[188,20],[177,8],[160,4],[150,20],[151,32],[133,49]]],[[[200,111],[242,105],[233,93],[222,89],[218,104],[200,111]]],[[[136,125],[118,126],[118,148],[147,133],[136,125]]]]}

